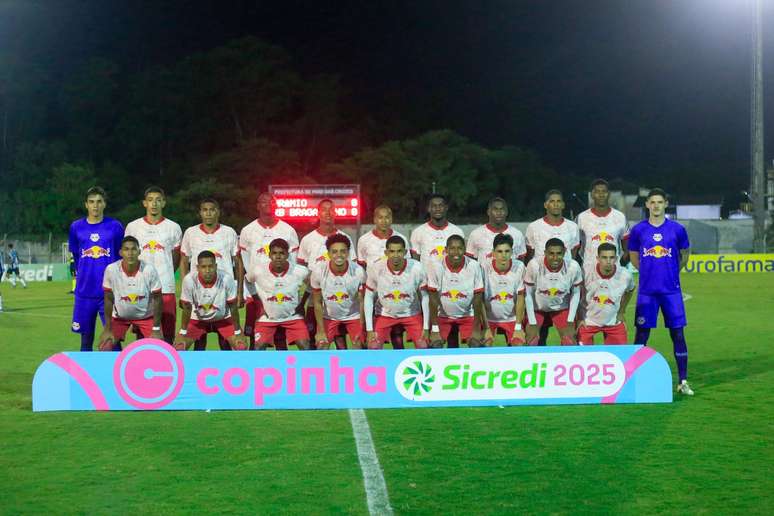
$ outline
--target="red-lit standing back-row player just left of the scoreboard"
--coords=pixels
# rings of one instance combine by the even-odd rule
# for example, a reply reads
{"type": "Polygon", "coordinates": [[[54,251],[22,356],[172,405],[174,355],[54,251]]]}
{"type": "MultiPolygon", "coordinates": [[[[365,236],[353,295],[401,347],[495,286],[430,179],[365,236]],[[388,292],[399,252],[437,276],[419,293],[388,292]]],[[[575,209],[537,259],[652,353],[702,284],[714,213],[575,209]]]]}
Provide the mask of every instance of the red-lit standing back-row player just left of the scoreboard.
{"type": "MultiPolygon", "coordinates": [[[[242,228],[239,233],[239,258],[242,262],[242,270],[248,271],[255,264],[267,265],[269,258],[269,244],[276,238],[281,238],[290,246],[290,261],[296,262],[298,253],[298,234],[290,224],[279,220],[274,210],[276,208],[274,196],[268,192],[258,196],[258,218],[242,228]]],[[[255,320],[261,311],[260,303],[254,301],[255,284],[244,282],[244,276],[237,278],[237,297],[239,305],[245,299],[245,335],[254,343],[255,320]],[[244,292],[247,292],[245,295],[244,292]]]]}

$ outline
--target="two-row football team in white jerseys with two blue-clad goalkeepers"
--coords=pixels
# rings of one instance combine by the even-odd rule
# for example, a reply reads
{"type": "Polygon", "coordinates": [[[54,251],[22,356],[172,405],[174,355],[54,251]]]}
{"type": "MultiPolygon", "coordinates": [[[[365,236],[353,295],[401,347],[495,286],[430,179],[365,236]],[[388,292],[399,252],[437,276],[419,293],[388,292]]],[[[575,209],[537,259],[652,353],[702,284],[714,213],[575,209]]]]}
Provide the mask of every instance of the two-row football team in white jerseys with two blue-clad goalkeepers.
{"type": "Polygon", "coordinates": [[[71,329],[81,351],[93,349],[95,336],[99,350],[120,350],[130,329],[178,350],[204,350],[209,333],[222,350],[403,349],[406,341],[481,347],[498,335],[509,346],[541,346],[552,326],[561,345],[591,345],[597,334],[597,344],[647,345],[661,311],[677,392],[693,395],[680,288],[690,254],[685,228],[666,218],[661,189],[648,193],[649,216],[632,228],[609,205],[605,180],[589,192],[591,207],[574,222],[563,216],[562,192],[549,190],[545,216],[525,234],[506,222],[500,197],[489,201],[487,223],[467,236],[449,221],[441,194],[428,196],[429,220],[409,237],[392,228],[391,208],[377,205],[373,229],[354,244],[337,228],[329,199],[319,202],[317,227],[299,240],[276,217],[269,193],[237,233],[220,224],[213,198],[199,203],[201,224],[182,231],[164,217],[165,193],[155,186],[144,192],[145,216],[124,228],[104,215],[107,193],[92,187],[87,216],[69,233],[77,278],[71,329]],[[639,287],[631,270],[639,271],[639,287]],[[625,313],[635,290],[630,325],[625,313]]]}

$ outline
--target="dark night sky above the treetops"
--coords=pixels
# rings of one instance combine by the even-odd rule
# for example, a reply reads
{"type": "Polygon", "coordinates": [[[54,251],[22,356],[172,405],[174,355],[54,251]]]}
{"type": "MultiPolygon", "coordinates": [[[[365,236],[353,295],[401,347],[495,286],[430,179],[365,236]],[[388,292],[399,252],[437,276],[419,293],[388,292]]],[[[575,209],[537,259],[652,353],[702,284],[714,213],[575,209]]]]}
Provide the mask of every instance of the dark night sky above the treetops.
{"type": "MultiPolygon", "coordinates": [[[[749,167],[747,0],[6,0],[0,15],[5,49],[62,75],[94,56],[133,72],[252,34],[286,48],[304,73],[339,74],[350,102],[401,113],[413,134],[450,128],[606,177],[749,167]]],[[[770,162],[772,95],[764,103],[770,162]]]]}

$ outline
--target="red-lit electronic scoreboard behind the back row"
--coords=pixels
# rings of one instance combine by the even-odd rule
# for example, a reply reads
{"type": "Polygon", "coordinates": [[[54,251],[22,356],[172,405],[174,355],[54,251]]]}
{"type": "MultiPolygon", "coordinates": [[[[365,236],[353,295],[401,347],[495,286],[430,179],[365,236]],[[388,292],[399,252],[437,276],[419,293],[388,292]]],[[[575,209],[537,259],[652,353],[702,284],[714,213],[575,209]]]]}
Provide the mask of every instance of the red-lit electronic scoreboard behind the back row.
{"type": "Polygon", "coordinates": [[[317,219],[317,205],[333,201],[336,219],[359,223],[360,185],[269,185],[277,202],[274,215],[287,222],[317,219]]]}

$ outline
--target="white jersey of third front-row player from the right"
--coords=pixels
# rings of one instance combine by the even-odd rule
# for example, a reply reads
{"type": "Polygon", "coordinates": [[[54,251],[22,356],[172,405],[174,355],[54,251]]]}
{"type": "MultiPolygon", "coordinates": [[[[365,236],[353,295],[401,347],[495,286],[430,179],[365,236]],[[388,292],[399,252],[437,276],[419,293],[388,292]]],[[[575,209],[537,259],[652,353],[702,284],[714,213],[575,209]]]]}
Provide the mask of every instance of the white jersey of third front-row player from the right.
{"type": "Polygon", "coordinates": [[[492,260],[483,266],[486,318],[492,322],[516,321],[516,296],[524,292],[526,267],[511,259],[506,271],[498,271],[492,260]]]}

